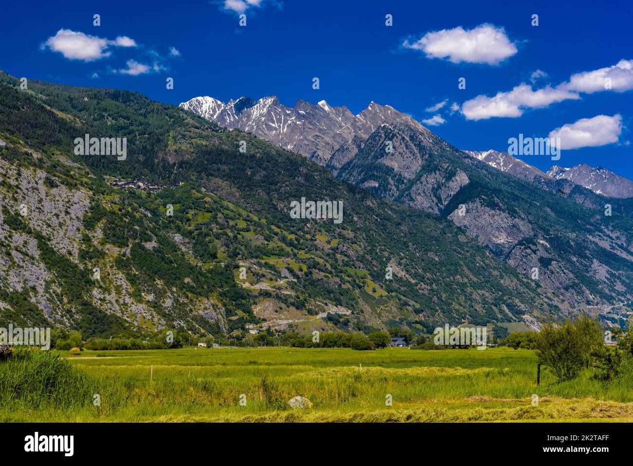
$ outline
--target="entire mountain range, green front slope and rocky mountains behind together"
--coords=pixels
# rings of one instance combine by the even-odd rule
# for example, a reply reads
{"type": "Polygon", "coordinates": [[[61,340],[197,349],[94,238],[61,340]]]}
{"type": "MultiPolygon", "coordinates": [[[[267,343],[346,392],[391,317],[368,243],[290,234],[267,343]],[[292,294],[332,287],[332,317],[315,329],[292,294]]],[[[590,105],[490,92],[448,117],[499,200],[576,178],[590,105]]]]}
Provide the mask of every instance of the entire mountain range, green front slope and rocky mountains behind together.
{"type": "Polygon", "coordinates": [[[292,118],[275,102],[208,105],[227,128],[136,92],[20,89],[0,72],[0,318],[84,337],[431,332],[633,298],[629,199],[536,186],[391,107],[350,119],[303,103],[292,118]],[[308,122],[334,130],[302,135],[308,122]],[[125,138],[127,155],[81,153],[86,135],[125,138]],[[304,199],[342,203],[342,222],[293,217],[304,199]]]}

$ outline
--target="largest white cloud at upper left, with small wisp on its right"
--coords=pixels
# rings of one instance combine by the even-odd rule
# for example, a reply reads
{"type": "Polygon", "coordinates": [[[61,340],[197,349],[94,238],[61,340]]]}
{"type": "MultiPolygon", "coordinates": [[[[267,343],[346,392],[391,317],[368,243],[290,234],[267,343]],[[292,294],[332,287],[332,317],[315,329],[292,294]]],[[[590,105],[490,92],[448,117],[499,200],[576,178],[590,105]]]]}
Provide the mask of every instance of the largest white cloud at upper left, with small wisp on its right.
{"type": "Polygon", "coordinates": [[[107,50],[110,46],[136,47],[137,44],[134,39],[125,35],[116,37],[114,41],[108,41],[96,35],[62,28],[57,34],[49,37],[41,48],[48,47],[54,52],[61,53],[68,60],[95,61],[110,56],[111,52],[107,50]]]}

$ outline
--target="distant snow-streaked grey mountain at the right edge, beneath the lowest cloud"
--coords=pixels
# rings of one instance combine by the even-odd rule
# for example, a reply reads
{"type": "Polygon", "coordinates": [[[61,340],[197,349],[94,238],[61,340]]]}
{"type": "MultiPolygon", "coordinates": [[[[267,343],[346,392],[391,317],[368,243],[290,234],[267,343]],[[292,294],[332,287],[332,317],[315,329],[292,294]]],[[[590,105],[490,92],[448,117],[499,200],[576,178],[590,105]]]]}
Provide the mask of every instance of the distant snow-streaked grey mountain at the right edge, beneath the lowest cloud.
{"type": "Polygon", "coordinates": [[[591,189],[596,194],[611,198],[633,197],[633,181],[616,175],[606,168],[591,167],[586,163],[572,168],[555,165],[548,170],[548,176],[556,180],[571,180],[575,184],[591,189]]]}

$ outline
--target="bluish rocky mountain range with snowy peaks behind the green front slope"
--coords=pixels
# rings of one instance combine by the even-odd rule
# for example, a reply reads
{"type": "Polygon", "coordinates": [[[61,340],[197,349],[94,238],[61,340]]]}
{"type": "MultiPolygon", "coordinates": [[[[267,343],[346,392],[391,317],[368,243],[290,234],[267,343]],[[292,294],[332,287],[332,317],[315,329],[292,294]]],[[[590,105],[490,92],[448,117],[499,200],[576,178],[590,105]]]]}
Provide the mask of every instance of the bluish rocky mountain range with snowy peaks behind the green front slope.
{"type": "Polygon", "coordinates": [[[238,101],[249,105],[239,115],[207,97],[180,107],[197,113],[209,103],[206,116],[218,124],[301,153],[380,198],[448,218],[521,274],[537,268],[539,282],[572,306],[633,296],[633,198],[615,173],[596,169],[601,182],[580,176],[585,170],[552,176],[507,153],[467,153],[373,102],[354,116],[325,101],[238,101]],[[223,112],[231,118],[213,116],[223,112]]]}

